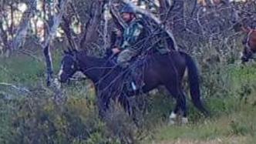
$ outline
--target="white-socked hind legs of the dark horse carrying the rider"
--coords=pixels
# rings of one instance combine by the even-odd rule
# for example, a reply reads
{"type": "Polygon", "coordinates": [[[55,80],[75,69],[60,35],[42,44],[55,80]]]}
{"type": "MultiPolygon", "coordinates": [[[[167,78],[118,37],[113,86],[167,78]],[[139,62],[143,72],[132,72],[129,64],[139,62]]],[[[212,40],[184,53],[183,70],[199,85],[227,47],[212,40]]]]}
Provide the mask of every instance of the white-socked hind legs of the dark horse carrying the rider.
{"type": "Polygon", "coordinates": [[[181,89],[181,86],[166,85],[166,88],[170,92],[170,94],[173,95],[173,97],[177,100],[175,108],[173,109],[173,112],[171,112],[169,116],[169,123],[173,124],[175,122],[175,119],[177,119],[177,114],[180,110],[182,114],[182,122],[187,123],[187,103],[186,97],[181,89]]]}

